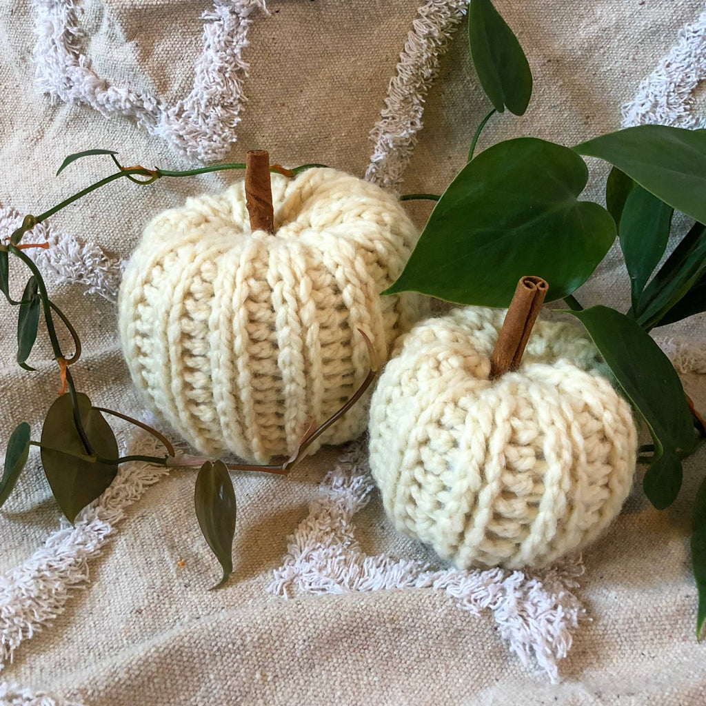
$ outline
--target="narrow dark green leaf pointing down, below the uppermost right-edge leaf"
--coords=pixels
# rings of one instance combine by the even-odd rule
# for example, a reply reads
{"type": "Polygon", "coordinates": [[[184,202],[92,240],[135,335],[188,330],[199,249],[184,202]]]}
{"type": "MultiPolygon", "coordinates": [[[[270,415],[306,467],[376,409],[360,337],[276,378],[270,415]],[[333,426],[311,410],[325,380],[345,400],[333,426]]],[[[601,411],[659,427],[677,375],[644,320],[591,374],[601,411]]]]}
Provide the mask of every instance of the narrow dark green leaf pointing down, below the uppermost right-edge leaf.
{"type": "Polygon", "coordinates": [[[639,313],[638,300],[652,271],[662,260],[669,242],[674,208],[653,196],[642,186],[630,191],[618,230],[621,249],[630,275],[633,311],[639,313]]]}

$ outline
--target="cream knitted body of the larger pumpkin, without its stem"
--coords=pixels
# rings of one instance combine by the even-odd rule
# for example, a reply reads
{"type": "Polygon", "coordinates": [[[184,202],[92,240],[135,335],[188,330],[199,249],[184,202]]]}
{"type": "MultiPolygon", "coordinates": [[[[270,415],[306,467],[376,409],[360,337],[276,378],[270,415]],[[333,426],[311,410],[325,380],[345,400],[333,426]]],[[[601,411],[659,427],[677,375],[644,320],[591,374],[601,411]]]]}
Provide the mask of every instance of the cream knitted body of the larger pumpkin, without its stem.
{"type": "MultiPolygon", "coordinates": [[[[384,360],[416,315],[416,296],[379,295],[417,237],[393,196],[335,169],[273,174],[272,191],[275,235],[251,233],[241,181],[157,216],[121,284],[133,381],[208,455],[292,453],[369,371],[357,329],[384,360]]],[[[357,405],[321,443],[365,424],[357,405]]]]}

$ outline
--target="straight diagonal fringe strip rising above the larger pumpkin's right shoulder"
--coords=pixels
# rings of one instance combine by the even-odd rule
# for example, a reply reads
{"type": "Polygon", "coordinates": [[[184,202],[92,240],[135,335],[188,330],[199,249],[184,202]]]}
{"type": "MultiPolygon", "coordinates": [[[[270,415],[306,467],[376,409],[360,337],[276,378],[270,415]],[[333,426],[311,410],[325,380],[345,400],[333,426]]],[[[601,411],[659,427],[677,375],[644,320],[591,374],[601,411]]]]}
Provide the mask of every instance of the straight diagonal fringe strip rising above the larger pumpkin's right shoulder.
{"type": "Polygon", "coordinates": [[[419,8],[390,80],[380,120],[370,132],[375,150],[365,178],[397,191],[422,128],[424,97],[438,74],[439,58],[465,15],[468,0],[428,0],[419,8]]]}

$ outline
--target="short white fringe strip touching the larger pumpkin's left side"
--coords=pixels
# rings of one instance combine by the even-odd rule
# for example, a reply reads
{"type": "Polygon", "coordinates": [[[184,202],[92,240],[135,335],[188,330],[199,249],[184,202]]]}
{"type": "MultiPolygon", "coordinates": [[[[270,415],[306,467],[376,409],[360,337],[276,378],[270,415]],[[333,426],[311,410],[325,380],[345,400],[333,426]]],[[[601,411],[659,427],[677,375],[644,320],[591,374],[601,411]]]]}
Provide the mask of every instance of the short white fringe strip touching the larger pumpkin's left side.
{"type": "MultiPolygon", "coordinates": [[[[22,225],[23,217],[13,208],[0,206],[0,241],[6,242],[14,230],[22,225]]],[[[81,244],[67,233],[46,223],[37,223],[25,235],[23,242],[49,243],[49,249],[32,248],[25,251],[42,271],[51,273],[59,284],[75,283],[86,294],[100,294],[108,301],[118,297],[123,263],[107,256],[92,243],[81,244]]]]}

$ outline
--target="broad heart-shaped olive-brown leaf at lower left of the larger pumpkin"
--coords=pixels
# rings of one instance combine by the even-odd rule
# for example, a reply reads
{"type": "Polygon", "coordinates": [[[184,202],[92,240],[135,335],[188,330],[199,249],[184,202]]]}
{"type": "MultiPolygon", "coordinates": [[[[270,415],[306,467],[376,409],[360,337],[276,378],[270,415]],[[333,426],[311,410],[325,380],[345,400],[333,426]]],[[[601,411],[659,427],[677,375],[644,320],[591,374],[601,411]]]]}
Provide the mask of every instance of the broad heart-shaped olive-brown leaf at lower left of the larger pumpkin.
{"type": "MultiPolygon", "coordinates": [[[[83,393],[77,393],[78,414],[95,453],[118,458],[118,445],[110,425],[83,393]]],[[[42,427],[42,465],[61,512],[69,522],[99,497],[118,472],[117,463],[90,461],[73,422],[70,395],[57,397],[42,427]],[[73,455],[72,455],[73,454],[73,455]],[[76,456],[83,456],[79,458],[76,456]]]]}

